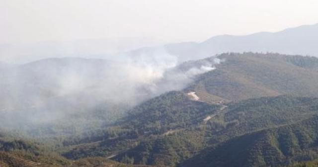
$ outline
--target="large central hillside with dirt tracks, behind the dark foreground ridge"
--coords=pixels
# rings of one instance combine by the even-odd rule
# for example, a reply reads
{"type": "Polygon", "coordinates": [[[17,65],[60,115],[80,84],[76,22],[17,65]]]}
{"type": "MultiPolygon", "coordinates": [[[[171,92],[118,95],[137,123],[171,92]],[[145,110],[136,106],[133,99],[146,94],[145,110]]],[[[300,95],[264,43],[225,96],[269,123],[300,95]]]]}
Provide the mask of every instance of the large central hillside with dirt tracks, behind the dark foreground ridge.
{"type": "MultiPolygon", "coordinates": [[[[317,98],[311,97],[318,92],[317,58],[253,53],[218,58],[224,61],[215,70],[194,77],[189,87],[131,109],[106,128],[113,135],[75,145],[63,155],[74,159],[110,156],[116,161],[175,166],[206,147],[317,114],[317,98]]],[[[191,61],[174,70],[188,71],[212,61],[215,58],[191,61]]]]}

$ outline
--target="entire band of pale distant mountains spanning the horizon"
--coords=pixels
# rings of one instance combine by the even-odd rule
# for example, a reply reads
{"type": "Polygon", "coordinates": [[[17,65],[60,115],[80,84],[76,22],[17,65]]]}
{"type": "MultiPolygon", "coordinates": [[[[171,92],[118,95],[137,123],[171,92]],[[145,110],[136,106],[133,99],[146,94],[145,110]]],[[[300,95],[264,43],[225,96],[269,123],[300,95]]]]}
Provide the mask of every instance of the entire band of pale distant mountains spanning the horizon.
{"type": "Polygon", "coordinates": [[[172,43],[150,38],[87,39],[65,42],[0,45],[0,61],[26,63],[56,57],[125,59],[166,52],[179,62],[203,59],[225,52],[274,52],[288,55],[318,56],[318,24],[288,28],[280,32],[250,35],[219,35],[206,41],[172,43]],[[139,49],[141,48],[141,49],[139,49]],[[131,52],[131,50],[134,50],[131,52]]]}

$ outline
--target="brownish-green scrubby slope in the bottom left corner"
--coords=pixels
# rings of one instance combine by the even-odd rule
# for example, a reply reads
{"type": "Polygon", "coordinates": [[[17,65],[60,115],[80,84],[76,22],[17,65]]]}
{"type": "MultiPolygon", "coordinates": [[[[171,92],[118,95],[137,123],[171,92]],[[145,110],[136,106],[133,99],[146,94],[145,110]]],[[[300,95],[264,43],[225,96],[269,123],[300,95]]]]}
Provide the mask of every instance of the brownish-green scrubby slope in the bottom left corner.
{"type": "Polygon", "coordinates": [[[29,141],[0,139],[1,167],[147,167],[128,165],[103,157],[68,160],[49,148],[29,141]]]}

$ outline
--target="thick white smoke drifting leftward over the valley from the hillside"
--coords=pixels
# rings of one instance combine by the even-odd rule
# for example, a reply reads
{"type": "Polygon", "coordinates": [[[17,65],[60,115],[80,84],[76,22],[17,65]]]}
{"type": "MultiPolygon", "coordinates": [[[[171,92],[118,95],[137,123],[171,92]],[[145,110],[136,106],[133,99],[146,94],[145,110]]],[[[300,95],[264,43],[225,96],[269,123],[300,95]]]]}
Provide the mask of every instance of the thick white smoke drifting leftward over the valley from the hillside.
{"type": "Polygon", "coordinates": [[[7,68],[0,71],[0,128],[30,123],[33,127],[69,125],[77,119],[85,127],[87,115],[94,126],[98,125],[94,121],[105,123],[112,119],[108,112],[116,112],[109,104],[134,106],[185,88],[197,75],[221,63],[218,58],[211,60],[180,64],[162,49],[113,60],[48,59],[7,68]],[[99,108],[106,118],[93,117],[100,104],[108,106],[99,108]]]}

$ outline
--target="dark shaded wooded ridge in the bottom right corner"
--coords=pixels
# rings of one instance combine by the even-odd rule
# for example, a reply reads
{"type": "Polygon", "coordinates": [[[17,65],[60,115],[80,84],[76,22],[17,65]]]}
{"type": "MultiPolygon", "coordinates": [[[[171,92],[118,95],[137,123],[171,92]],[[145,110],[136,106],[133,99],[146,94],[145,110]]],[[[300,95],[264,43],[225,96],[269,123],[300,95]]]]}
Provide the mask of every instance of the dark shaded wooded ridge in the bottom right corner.
{"type": "Polygon", "coordinates": [[[184,167],[269,167],[318,158],[318,117],[231,139],[184,167]]]}

